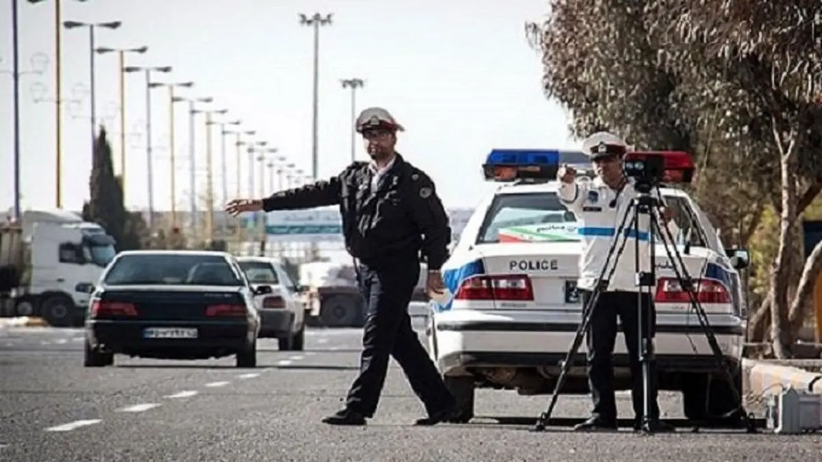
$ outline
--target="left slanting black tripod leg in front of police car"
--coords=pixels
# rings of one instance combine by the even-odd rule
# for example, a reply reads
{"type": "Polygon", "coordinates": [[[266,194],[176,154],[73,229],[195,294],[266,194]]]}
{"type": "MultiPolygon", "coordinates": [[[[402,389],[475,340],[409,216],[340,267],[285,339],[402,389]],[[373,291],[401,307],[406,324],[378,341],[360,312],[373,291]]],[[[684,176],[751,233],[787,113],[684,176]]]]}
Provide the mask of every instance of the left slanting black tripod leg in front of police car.
{"type": "MultiPolygon", "coordinates": [[[[625,216],[623,216],[622,223],[620,224],[620,227],[617,229],[617,232],[620,229],[625,228],[628,216],[630,215],[630,211],[632,209],[633,206],[630,205],[626,210],[626,214],[625,216]]],[[[633,223],[633,221],[631,223],[633,223]]],[[[591,315],[593,314],[594,307],[597,306],[596,303],[599,300],[599,294],[602,293],[603,290],[607,289],[608,283],[611,280],[614,271],[617,270],[616,261],[619,260],[619,257],[621,256],[622,251],[625,248],[625,245],[628,240],[623,238],[621,245],[617,248],[619,235],[617,234],[615,238],[617,240],[614,241],[611,248],[608,250],[607,256],[605,257],[605,263],[603,265],[602,274],[599,275],[599,279],[597,280],[597,284],[594,286],[593,293],[591,294],[588,303],[586,303],[586,305],[583,307],[582,322],[580,322],[580,326],[576,330],[574,340],[571,342],[571,346],[568,350],[568,353],[566,353],[565,360],[561,363],[560,376],[556,378],[556,386],[554,386],[554,391],[551,395],[551,401],[548,403],[547,409],[543,413],[539,414],[539,417],[537,418],[537,423],[533,426],[534,432],[542,432],[543,430],[545,430],[547,421],[551,418],[551,414],[553,413],[553,410],[556,407],[556,401],[559,400],[560,390],[562,390],[562,387],[565,386],[565,382],[568,377],[568,372],[570,371],[571,366],[573,366],[574,364],[574,357],[577,351],[579,351],[580,345],[582,344],[582,340],[584,338],[584,334],[588,330],[588,326],[591,323],[591,315]],[[614,255],[615,251],[616,255],[614,255]],[[610,266],[610,270],[608,271],[607,277],[603,277],[605,276],[605,272],[611,263],[612,256],[614,257],[615,264],[610,266]]]]}

